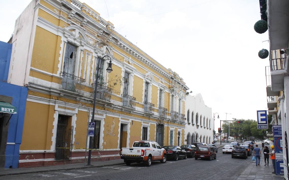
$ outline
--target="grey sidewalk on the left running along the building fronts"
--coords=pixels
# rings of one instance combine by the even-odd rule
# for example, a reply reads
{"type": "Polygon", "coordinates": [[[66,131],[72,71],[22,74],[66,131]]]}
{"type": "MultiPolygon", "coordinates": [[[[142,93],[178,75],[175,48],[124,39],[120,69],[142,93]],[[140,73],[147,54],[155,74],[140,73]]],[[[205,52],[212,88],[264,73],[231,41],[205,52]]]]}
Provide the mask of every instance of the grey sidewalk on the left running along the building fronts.
{"type": "MultiPolygon", "coordinates": [[[[216,144],[217,148],[223,147],[220,144],[216,144]]],[[[87,162],[86,162],[87,164],[87,162]]],[[[6,175],[19,175],[19,174],[27,174],[27,173],[43,173],[49,171],[58,171],[58,170],[73,170],[73,169],[85,169],[85,168],[96,168],[103,166],[114,166],[119,164],[125,164],[122,159],[119,160],[111,160],[111,161],[97,161],[91,162],[91,166],[87,166],[84,163],[74,163],[74,164],[64,164],[64,165],[56,165],[56,166],[40,166],[40,167],[32,167],[32,168],[17,168],[17,169],[0,169],[0,176],[6,175]]]]}

